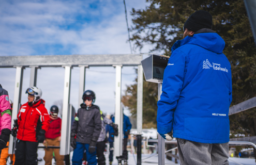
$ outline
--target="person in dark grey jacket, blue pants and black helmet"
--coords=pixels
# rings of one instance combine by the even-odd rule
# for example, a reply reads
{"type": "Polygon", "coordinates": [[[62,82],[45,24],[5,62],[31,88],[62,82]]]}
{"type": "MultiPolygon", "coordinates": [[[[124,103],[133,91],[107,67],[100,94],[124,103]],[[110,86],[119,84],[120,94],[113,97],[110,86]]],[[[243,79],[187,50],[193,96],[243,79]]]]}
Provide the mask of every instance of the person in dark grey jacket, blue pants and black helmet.
{"type": "Polygon", "coordinates": [[[71,129],[70,145],[74,148],[72,164],[82,164],[86,150],[88,164],[96,165],[96,143],[101,131],[101,114],[99,107],[93,104],[96,98],[93,91],[85,91],[82,98],[84,103],[78,109],[71,129]]]}

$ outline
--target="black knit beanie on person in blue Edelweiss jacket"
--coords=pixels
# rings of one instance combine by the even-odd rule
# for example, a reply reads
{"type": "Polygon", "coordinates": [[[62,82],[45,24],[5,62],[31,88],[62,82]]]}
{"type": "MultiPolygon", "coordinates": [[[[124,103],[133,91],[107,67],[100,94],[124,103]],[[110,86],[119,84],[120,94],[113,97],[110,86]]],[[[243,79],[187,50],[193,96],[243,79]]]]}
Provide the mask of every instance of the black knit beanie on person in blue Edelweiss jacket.
{"type": "Polygon", "coordinates": [[[195,32],[202,28],[212,29],[212,25],[212,15],[210,15],[208,11],[198,10],[190,15],[188,20],[185,22],[184,27],[195,32]]]}

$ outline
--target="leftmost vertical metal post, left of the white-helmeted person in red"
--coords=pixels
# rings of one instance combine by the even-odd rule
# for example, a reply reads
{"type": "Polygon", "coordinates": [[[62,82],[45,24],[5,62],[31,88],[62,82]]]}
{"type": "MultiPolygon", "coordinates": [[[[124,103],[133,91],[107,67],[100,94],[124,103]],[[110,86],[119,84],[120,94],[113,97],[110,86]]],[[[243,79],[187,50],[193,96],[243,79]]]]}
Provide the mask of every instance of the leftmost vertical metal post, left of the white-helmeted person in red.
{"type": "MultiPolygon", "coordinates": [[[[24,70],[23,67],[16,67],[16,78],[15,78],[14,98],[13,98],[13,107],[12,107],[12,116],[11,116],[11,127],[14,124],[13,120],[17,119],[17,114],[18,114],[18,111],[20,108],[23,70],[24,70]]],[[[8,150],[9,154],[12,154],[12,148],[13,148],[13,136],[10,136],[9,150],[8,150]]]]}

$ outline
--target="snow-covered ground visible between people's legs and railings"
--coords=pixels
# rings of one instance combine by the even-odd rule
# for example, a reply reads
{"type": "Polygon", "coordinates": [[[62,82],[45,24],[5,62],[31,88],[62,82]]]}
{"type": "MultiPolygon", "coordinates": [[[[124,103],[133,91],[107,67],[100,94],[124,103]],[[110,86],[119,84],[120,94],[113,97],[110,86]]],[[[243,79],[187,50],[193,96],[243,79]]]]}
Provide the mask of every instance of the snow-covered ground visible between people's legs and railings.
{"type": "MultiPolygon", "coordinates": [[[[44,165],[44,150],[43,149],[38,149],[37,151],[38,154],[38,158],[41,158],[42,161],[38,162],[38,165],[44,165]]],[[[72,154],[73,152],[70,153],[70,160],[72,160],[72,154]]],[[[128,158],[128,164],[129,165],[135,165],[136,161],[137,161],[137,155],[133,155],[129,153],[129,158],[128,158]],[[136,160],[136,161],[135,161],[136,160]]],[[[152,156],[151,154],[142,154],[142,159],[152,156]]],[[[109,165],[109,158],[106,155],[106,165],[109,165]]],[[[9,161],[10,162],[10,161],[9,161]]],[[[152,164],[158,164],[158,157],[154,156],[154,157],[150,157],[148,159],[142,160],[142,165],[152,165],[152,164]]],[[[229,163],[230,165],[255,165],[255,159],[248,159],[248,158],[229,158],[229,163]]],[[[54,160],[52,161],[52,164],[54,164],[54,160]]],[[[70,162],[70,164],[72,164],[70,162]]],[[[171,164],[175,164],[173,161],[170,161],[168,159],[165,158],[165,165],[171,165],[171,164]]],[[[9,165],[9,163],[7,162],[7,165],[9,165]]],[[[113,161],[113,165],[117,165],[117,160],[114,159],[113,161]]]]}

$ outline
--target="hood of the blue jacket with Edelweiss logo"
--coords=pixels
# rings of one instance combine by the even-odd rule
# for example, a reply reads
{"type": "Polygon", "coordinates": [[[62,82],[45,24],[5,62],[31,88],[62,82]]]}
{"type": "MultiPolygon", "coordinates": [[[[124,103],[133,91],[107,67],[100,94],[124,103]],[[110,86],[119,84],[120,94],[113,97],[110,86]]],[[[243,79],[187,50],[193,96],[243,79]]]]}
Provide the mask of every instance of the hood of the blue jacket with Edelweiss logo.
{"type": "Polygon", "coordinates": [[[192,37],[187,36],[183,40],[178,40],[172,46],[172,52],[176,48],[183,46],[185,44],[198,45],[205,48],[208,51],[214,53],[222,53],[225,47],[225,41],[215,32],[206,32],[200,34],[194,34],[192,37]]]}

